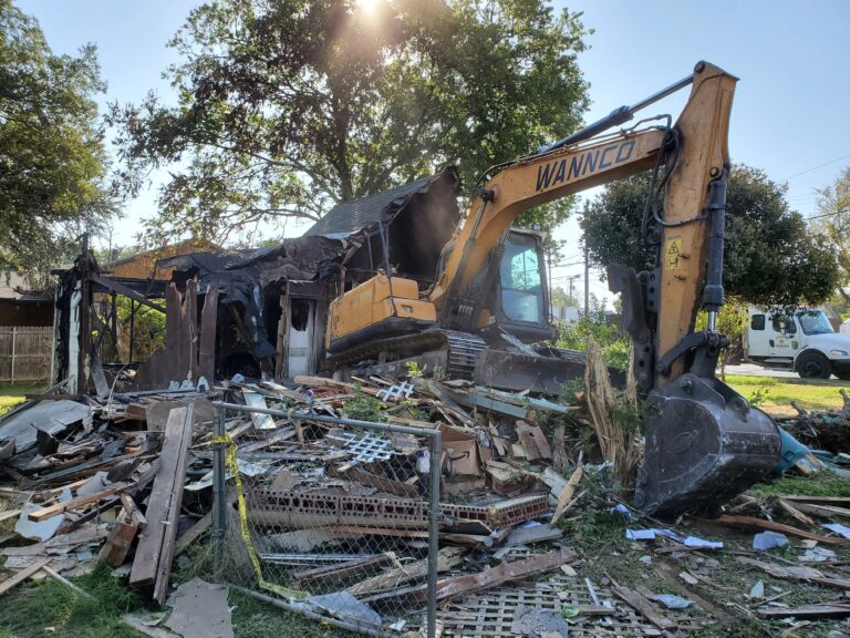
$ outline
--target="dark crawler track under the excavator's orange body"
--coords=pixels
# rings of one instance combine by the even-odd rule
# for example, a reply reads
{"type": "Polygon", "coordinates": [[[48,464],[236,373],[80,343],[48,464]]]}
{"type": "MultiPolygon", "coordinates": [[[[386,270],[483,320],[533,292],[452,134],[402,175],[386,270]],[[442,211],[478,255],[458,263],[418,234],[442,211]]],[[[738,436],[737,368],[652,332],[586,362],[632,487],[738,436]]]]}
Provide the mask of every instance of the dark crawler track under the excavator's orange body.
{"type": "Polygon", "coordinates": [[[471,380],[478,356],[486,348],[487,343],[484,339],[475,335],[434,328],[414,335],[363,343],[345,352],[331,356],[325,360],[324,366],[335,371],[353,367],[369,359],[377,361],[382,353],[392,354],[393,359],[408,359],[425,352],[446,349],[447,377],[449,379],[471,380]]]}

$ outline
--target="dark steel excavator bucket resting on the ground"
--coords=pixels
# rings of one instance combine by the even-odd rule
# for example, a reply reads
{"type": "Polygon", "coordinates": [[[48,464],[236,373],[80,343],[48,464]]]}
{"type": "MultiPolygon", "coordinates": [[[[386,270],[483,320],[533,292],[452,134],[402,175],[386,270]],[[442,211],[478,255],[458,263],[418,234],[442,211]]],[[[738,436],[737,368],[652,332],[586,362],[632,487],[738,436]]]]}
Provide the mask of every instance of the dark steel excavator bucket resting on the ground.
{"type": "Polygon", "coordinates": [[[649,395],[635,506],[713,514],[779,462],[779,429],[722,381],[686,373],[649,395]]]}

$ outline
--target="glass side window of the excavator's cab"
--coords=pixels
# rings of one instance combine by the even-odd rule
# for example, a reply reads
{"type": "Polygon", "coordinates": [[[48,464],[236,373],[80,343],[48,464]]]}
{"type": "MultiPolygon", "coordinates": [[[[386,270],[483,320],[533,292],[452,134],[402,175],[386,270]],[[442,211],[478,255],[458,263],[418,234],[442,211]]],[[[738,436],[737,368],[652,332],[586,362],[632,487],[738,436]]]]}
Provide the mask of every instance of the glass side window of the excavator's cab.
{"type": "Polygon", "coordinates": [[[501,307],[511,321],[543,321],[543,289],[533,237],[510,234],[501,258],[501,307]]]}

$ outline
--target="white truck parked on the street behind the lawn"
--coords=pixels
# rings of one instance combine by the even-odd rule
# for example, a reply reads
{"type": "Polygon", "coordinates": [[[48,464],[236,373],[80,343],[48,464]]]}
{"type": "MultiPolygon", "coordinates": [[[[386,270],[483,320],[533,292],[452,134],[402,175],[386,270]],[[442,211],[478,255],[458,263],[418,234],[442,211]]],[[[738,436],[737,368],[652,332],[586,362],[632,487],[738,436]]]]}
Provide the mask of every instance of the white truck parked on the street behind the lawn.
{"type": "Polygon", "coordinates": [[[749,310],[744,358],[800,377],[850,381],[850,335],[838,333],[821,310],[749,310]]]}

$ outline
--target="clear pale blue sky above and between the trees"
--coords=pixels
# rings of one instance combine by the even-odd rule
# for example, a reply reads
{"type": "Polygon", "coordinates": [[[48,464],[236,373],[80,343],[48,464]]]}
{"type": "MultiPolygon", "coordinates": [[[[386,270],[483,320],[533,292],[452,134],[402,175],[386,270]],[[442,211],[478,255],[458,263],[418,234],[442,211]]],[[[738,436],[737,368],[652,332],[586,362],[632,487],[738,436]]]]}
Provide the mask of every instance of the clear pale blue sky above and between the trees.
{"type": "MultiPolygon", "coordinates": [[[[73,53],[95,42],[108,82],[102,102],[138,102],[148,90],[170,93],[163,70],[177,61],[166,42],[179,28],[189,0],[17,0],[41,22],[59,53],[73,53]]],[[[791,206],[815,210],[815,188],[829,184],[850,165],[850,1],[816,0],[577,0],[556,2],[582,11],[590,50],[579,63],[591,83],[593,121],[687,75],[698,60],[713,62],[740,78],[733,105],[729,147],[733,161],[764,168],[788,182],[791,206]],[[839,160],[840,158],[840,160],[839,160]],[[827,164],[827,165],[823,165],[827,164]]],[[[652,107],[674,116],[686,92],[652,107]]],[[[148,191],[131,203],[116,228],[118,243],[129,243],[139,219],[155,209],[148,191]]],[[[299,234],[291,225],[287,234],[299,234]]],[[[557,231],[568,239],[567,260],[578,255],[574,220],[557,231]]],[[[554,284],[580,267],[556,269],[554,284]]],[[[591,290],[607,295],[592,277],[591,290]]],[[[576,282],[580,292],[582,281],[576,282]]],[[[608,294],[610,297],[610,294],[608,294]]]]}

